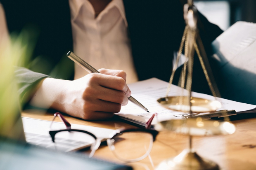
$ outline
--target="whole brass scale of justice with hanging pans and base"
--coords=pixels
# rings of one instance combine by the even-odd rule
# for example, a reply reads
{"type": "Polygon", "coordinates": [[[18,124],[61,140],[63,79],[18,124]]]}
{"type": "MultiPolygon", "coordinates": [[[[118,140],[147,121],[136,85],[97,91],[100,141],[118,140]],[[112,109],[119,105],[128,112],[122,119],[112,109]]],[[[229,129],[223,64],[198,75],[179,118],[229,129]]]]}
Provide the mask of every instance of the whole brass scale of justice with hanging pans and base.
{"type": "Polygon", "coordinates": [[[156,170],[220,170],[218,164],[206,158],[202,158],[192,149],[192,136],[230,135],[235,132],[235,126],[229,122],[228,116],[224,117],[224,121],[202,121],[198,116],[197,119],[192,119],[192,113],[199,114],[202,112],[216,111],[220,109],[221,103],[217,100],[217,96],[220,97],[220,95],[199,36],[199,30],[197,29],[197,9],[193,5],[193,0],[188,0],[187,4],[184,5],[184,19],[186,21],[186,27],[180,43],[177,60],[173,67],[166,97],[159,98],[157,102],[167,109],[186,112],[189,113],[190,116],[185,120],[162,121],[156,124],[155,128],[159,131],[169,130],[178,134],[187,135],[189,137],[189,149],[183,150],[174,158],[168,158],[162,161],[156,167],[156,170]],[[197,44],[199,44],[199,46],[197,44]],[[184,89],[186,83],[186,90],[184,89],[183,91],[186,91],[188,95],[168,96],[184,46],[186,61],[182,68],[179,84],[180,87],[184,89]],[[191,95],[194,51],[197,52],[197,56],[199,57],[200,64],[215,100],[196,98],[191,95]]]}

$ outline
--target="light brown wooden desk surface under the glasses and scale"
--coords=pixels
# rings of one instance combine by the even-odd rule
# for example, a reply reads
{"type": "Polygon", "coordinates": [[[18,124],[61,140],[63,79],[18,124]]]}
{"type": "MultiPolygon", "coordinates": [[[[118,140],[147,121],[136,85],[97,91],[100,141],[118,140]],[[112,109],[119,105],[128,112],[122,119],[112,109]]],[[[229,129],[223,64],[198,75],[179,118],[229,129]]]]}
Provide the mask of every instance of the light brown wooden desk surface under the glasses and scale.
{"type": "MultiPolygon", "coordinates": [[[[38,110],[26,110],[22,116],[51,121],[53,115],[38,110]]],[[[121,121],[84,121],[65,116],[70,123],[101,128],[118,129],[135,126],[121,121]]],[[[56,121],[60,121],[56,119],[56,121]]],[[[193,147],[197,153],[220,165],[223,170],[256,170],[256,118],[233,121],[237,130],[232,135],[215,137],[194,137],[193,147]]],[[[187,148],[188,139],[170,132],[161,132],[156,137],[150,157],[136,163],[129,163],[135,170],[153,170],[162,160],[179,154],[187,148]]],[[[86,152],[86,151],[85,151],[86,152]]],[[[106,145],[102,145],[94,157],[119,161],[106,145]]]]}

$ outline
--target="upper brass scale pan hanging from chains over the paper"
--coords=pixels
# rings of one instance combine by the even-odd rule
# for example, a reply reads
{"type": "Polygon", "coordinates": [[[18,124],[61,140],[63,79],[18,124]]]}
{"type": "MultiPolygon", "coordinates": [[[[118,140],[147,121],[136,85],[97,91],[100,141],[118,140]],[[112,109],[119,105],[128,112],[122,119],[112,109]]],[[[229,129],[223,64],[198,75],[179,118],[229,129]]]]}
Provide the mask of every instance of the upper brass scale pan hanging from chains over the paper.
{"type": "MultiPolygon", "coordinates": [[[[190,112],[190,103],[187,96],[168,96],[166,98],[159,98],[157,102],[167,109],[190,112]]],[[[203,98],[191,97],[191,112],[203,113],[213,112],[220,109],[221,103],[217,100],[208,100],[203,98]]]]}

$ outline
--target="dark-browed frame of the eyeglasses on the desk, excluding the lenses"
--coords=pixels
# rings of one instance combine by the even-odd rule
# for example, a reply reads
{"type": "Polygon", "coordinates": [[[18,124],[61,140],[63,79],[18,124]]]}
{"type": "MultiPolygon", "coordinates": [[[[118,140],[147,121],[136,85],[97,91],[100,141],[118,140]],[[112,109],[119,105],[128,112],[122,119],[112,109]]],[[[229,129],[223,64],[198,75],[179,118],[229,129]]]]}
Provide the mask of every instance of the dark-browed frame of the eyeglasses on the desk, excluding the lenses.
{"type": "MultiPolygon", "coordinates": [[[[66,129],[62,129],[62,130],[50,130],[50,131],[49,131],[49,134],[50,134],[50,136],[51,136],[51,138],[52,138],[52,142],[55,143],[55,135],[56,135],[57,133],[59,133],[59,132],[64,132],[64,131],[70,132],[70,131],[73,131],[73,132],[86,133],[86,134],[92,136],[92,137],[95,139],[95,143],[92,144],[91,147],[90,147],[91,153],[90,153],[89,157],[91,158],[91,157],[94,155],[95,151],[100,147],[101,140],[98,139],[94,134],[92,134],[92,133],[90,133],[90,132],[88,132],[88,131],[86,131],[86,130],[71,129],[71,124],[70,124],[70,123],[64,118],[64,116],[63,116],[61,113],[59,113],[59,112],[56,112],[56,113],[54,114],[54,118],[53,118],[53,120],[52,120],[52,123],[54,122],[54,119],[56,118],[56,116],[59,116],[59,118],[61,119],[61,121],[65,124],[66,129]]],[[[52,126],[52,123],[51,123],[50,127],[52,126]]],[[[115,130],[115,131],[109,136],[109,138],[107,139],[107,145],[108,145],[109,149],[114,153],[114,155],[115,155],[117,158],[119,158],[121,161],[125,161],[125,162],[141,161],[142,159],[146,158],[146,157],[149,155],[149,153],[151,152],[151,150],[152,150],[152,146],[151,146],[150,149],[148,149],[148,151],[147,151],[143,156],[141,156],[140,158],[132,159],[132,160],[123,159],[123,158],[117,156],[117,155],[115,154],[115,152],[114,152],[113,147],[112,147],[114,142],[111,142],[111,141],[112,141],[112,139],[113,139],[114,137],[116,137],[117,135],[120,135],[121,133],[125,133],[125,132],[146,132],[146,133],[150,133],[150,134],[152,135],[152,137],[153,137],[152,144],[153,144],[153,142],[156,140],[156,136],[157,136],[158,133],[159,133],[159,132],[156,131],[156,130],[140,129],[140,128],[129,128],[129,129],[122,128],[122,129],[117,129],[117,130],[115,130]]]]}

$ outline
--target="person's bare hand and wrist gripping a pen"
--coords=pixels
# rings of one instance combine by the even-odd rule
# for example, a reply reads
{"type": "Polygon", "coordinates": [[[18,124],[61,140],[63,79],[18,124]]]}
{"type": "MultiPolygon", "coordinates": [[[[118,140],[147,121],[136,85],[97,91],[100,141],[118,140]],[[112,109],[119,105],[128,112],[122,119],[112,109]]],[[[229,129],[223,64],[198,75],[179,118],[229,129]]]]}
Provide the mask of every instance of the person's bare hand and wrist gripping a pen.
{"type": "Polygon", "coordinates": [[[91,73],[73,81],[46,78],[31,104],[44,108],[48,105],[86,120],[109,119],[128,103],[131,91],[124,71],[100,69],[99,72],[102,74],[91,73]],[[41,105],[43,101],[48,104],[41,105]]]}

